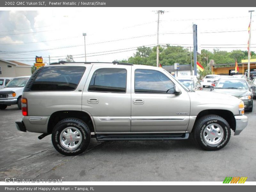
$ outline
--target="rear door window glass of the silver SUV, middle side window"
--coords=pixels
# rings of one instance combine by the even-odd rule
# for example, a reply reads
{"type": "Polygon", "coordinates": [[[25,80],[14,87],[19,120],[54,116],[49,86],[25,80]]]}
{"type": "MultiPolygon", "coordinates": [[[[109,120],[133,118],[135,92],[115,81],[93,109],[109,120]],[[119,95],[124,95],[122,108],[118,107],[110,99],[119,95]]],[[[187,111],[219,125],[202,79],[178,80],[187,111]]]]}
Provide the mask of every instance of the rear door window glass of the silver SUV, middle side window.
{"type": "Polygon", "coordinates": [[[88,91],[126,92],[125,69],[99,69],[94,72],[88,91]]]}

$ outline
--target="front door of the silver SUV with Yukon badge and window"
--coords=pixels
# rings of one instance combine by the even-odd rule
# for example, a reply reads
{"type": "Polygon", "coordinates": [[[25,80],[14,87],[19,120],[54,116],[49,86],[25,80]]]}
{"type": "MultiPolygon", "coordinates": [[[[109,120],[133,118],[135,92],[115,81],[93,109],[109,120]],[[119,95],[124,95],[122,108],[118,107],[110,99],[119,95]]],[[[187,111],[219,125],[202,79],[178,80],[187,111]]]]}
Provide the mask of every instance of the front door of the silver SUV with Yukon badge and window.
{"type": "Polygon", "coordinates": [[[190,113],[188,92],[181,88],[180,95],[173,94],[174,85],[178,83],[164,73],[161,69],[132,66],[131,132],[187,130],[190,113]]]}

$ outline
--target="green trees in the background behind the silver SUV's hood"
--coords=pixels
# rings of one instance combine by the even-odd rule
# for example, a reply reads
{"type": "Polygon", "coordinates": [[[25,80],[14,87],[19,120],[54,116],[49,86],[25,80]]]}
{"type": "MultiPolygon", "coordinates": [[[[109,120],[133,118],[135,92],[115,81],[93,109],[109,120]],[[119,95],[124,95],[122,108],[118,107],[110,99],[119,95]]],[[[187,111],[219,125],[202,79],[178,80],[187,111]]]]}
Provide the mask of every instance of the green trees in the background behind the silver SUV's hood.
{"type": "MultiPolygon", "coordinates": [[[[193,50],[191,51],[192,61],[194,63],[193,50]]],[[[241,50],[233,50],[232,52],[227,52],[214,49],[213,52],[210,52],[203,49],[201,54],[197,55],[197,61],[205,69],[203,72],[200,72],[200,75],[205,76],[207,74],[211,74],[209,65],[208,70],[206,70],[207,59],[208,63],[211,60],[214,60],[216,64],[228,64],[235,63],[236,59],[239,63],[241,60],[248,58],[247,54],[247,51],[241,50]]],[[[256,58],[255,52],[252,52],[251,55],[251,59],[256,58]]],[[[127,60],[121,60],[119,62],[127,62],[127,60]]],[[[156,46],[153,48],[145,46],[138,47],[137,52],[133,55],[133,57],[128,58],[128,62],[138,65],[156,66],[156,46]]],[[[161,63],[162,66],[174,65],[174,63],[191,64],[190,50],[180,46],[170,46],[170,44],[159,46],[159,63],[161,63]]]]}

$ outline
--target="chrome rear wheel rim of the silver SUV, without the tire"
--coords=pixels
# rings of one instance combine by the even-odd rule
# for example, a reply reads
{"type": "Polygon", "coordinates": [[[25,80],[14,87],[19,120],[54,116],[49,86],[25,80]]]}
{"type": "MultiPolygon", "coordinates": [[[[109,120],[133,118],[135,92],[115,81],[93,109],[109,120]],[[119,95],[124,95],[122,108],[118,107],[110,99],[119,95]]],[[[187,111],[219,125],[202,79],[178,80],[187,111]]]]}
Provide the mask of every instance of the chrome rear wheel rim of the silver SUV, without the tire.
{"type": "Polygon", "coordinates": [[[82,134],[75,127],[67,127],[60,133],[60,144],[68,150],[74,150],[82,142],[82,134]]]}

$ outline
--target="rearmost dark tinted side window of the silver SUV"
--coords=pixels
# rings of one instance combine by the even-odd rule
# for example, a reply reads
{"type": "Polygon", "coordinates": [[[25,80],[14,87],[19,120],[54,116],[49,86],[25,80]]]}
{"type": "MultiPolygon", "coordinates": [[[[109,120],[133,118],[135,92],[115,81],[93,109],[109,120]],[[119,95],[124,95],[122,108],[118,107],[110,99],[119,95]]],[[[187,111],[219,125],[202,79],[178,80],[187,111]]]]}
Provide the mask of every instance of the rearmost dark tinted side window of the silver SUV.
{"type": "Polygon", "coordinates": [[[75,90],[85,71],[82,66],[46,67],[37,75],[31,91],[75,90]]]}

